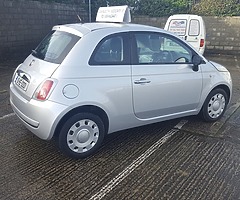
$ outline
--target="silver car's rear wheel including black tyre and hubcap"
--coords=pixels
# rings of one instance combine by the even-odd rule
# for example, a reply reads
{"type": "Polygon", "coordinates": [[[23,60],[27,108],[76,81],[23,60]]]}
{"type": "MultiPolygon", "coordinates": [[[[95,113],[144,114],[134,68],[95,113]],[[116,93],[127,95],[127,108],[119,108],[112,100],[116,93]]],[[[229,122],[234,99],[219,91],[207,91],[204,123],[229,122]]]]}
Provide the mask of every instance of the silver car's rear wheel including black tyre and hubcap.
{"type": "Polygon", "coordinates": [[[104,139],[104,125],[92,113],[79,113],[68,119],[59,134],[59,148],[73,158],[93,154],[104,139]]]}

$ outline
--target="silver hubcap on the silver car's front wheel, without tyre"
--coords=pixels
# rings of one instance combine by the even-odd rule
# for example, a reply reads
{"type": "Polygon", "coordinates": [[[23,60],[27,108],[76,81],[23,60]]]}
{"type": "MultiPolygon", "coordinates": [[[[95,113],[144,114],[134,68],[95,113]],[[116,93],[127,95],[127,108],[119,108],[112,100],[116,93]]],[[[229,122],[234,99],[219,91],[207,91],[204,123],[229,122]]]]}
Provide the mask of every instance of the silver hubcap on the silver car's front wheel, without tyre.
{"type": "Polygon", "coordinates": [[[222,94],[215,94],[208,103],[208,114],[211,118],[219,117],[225,109],[225,97],[222,94]]]}

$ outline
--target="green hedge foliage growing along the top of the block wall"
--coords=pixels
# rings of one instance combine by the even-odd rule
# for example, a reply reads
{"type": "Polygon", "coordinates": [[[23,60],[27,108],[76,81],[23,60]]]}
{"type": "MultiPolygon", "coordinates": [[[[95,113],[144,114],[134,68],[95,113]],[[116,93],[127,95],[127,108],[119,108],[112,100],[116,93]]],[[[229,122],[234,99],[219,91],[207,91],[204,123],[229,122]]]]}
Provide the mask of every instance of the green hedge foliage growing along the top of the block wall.
{"type": "MultiPolygon", "coordinates": [[[[16,0],[17,1],[17,0],[16,0]]],[[[88,0],[34,0],[49,3],[81,5],[88,11],[88,0]]],[[[172,14],[192,13],[210,16],[240,16],[239,0],[91,0],[92,19],[101,6],[128,5],[136,15],[151,17],[169,16],[172,14]]]]}

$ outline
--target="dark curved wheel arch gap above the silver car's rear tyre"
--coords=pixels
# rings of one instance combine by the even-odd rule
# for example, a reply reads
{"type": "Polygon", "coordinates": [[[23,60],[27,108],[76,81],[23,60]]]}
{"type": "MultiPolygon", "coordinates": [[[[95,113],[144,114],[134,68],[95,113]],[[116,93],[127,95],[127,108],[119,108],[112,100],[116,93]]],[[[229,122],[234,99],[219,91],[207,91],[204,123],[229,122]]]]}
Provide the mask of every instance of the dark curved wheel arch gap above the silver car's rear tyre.
{"type": "Polygon", "coordinates": [[[67,119],[69,119],[69,117],[71,117],[71,116],[73,116],[77,113],[83,113],[83,112],[92,113],[92,114],[95,114],[95,115],[99,116],[101,118],[101,120],[103,121],[105,134],[108,132],[109,118],[108,118],[106,112],[100,107],[93,106],[93,105],[85,105],[85,106],[76,107],[76,108],[70,110],[68,113],[66,113],[61,118],[61,120],[58,122],[58,124],[55,128],[53,137],[57,137],[59,135],[59,132],[64,125],[64,122],[67,119]]]}

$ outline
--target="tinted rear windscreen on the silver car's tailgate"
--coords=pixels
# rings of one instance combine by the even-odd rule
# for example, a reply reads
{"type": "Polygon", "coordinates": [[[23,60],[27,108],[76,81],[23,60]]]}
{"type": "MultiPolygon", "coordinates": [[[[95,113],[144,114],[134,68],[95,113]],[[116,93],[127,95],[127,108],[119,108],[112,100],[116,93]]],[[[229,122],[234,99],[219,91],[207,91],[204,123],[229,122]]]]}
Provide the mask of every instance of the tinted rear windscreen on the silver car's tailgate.
{"type": "Polygon", "coordinates": [[[47,62],[60,64],[80,37],[62,31],[51,31],[32,55],[47,62]]]}

